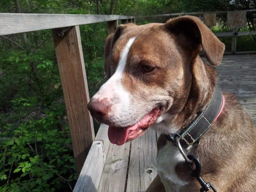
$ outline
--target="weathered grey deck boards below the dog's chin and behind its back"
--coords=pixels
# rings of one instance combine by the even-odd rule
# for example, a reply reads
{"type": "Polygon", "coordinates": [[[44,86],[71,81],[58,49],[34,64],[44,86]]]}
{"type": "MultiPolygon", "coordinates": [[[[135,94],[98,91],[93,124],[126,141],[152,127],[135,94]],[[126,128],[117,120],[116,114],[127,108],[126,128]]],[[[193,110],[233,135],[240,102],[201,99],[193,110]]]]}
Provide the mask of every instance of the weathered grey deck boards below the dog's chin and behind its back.
{"type": "MultiPolygon", "coordinates": [[[[217,71],[222,90],[237,95],[256,125],[256,55],[226,55],[217,71]]],[[[156,141],[149,129],[130,143],[113,145],[102,125],[74,191],[145,191],[157,175],[156,141]]]]}

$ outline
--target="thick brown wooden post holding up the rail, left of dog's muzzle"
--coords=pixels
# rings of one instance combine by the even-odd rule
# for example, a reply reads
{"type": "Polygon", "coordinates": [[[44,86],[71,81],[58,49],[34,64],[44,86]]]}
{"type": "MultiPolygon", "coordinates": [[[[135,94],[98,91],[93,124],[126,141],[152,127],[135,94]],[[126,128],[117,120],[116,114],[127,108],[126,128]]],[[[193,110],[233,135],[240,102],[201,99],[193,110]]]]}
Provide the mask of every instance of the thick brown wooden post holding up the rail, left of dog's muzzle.
{"type": "Polygon", "coordinates": [[[52,29],[77,174],[95,138],[79,26],[52,29]]]}

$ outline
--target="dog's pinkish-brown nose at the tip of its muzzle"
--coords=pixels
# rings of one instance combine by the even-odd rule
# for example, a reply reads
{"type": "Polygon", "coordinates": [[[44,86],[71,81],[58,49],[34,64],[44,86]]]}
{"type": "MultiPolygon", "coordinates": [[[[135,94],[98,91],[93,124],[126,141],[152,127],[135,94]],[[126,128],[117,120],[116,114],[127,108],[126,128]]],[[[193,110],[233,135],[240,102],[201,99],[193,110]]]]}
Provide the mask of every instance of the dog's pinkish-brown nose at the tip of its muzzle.
{"type": "Polygon", "coordinates": [[[103,102],[90,101],[87,108],[94,118],[102,119],[103,116],[108,115],[111,106],[103,102]]]}

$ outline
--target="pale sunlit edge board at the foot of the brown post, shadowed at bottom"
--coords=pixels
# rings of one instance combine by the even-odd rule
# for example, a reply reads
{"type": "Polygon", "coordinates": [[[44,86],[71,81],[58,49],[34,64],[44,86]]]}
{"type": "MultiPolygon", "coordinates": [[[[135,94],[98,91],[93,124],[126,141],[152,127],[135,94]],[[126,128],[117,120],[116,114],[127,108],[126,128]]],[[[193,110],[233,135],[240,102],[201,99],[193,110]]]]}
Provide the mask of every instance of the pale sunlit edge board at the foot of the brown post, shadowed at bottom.
{"type": "Polygon", "coordinates": [[[73,191],[97,192],[105,160],[103,141],[94,141],[73,191]]]}

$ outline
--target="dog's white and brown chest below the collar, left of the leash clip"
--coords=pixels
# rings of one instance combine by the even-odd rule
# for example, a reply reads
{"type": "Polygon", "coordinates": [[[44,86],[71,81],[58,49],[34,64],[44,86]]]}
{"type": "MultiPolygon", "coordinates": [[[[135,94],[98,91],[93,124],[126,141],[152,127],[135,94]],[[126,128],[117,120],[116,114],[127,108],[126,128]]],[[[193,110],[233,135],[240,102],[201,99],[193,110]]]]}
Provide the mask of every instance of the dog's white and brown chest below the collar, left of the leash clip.
{"type": "Polygon", "coordinates": [[[162,147],[157,155],[157,172],[163,182],[166,191],[180,192],[180,187],[188,184],[187,181],[178,177],[175,167],[184,162],[178,148],[171,142],[162,147]]]}

